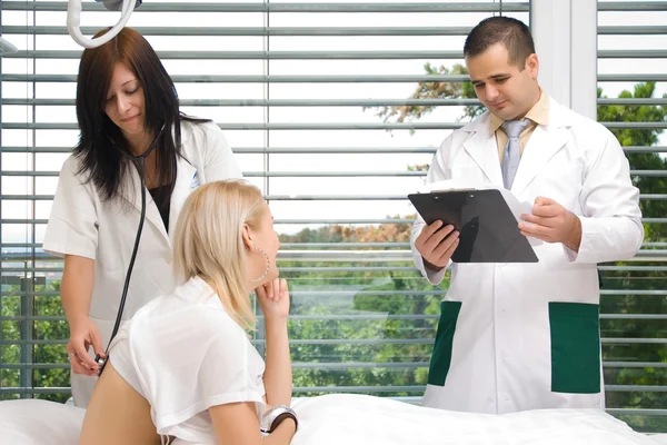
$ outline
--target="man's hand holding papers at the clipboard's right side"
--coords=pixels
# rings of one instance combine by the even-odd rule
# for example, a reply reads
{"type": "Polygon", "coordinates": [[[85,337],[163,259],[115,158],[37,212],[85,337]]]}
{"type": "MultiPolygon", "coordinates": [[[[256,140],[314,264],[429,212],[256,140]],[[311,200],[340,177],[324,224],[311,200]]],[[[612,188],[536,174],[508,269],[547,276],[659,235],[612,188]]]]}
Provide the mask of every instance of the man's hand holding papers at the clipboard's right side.
{"type": "Polygon", "coordinates": [[[521,235],[547,243],[563,243],[574,251],[581,244],[581,221],[552,199],[538,197],[532,206],[532,215],[521,215],[521,235]]]}

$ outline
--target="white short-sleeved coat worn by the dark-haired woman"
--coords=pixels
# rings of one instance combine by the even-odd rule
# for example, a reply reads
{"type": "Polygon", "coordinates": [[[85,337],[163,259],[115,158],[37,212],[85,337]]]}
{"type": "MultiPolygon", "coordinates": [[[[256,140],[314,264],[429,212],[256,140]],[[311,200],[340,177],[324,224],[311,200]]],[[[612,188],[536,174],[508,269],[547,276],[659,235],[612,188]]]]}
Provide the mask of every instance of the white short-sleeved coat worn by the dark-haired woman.
{"type": "MultiPolygon", "coordinates": [[[[213,122],[181,123],[185,159],[178,160],[176,186],[169,210],[169,233],[148,190],[146,222],[130,280],[123,319],[145,304],[176,288],[171,241],[186,198],[200,184],[241,178],[241,171],[220,128],[213,122]]],[[[77,255],[94,260],[94,286],[90,318],[107,347],[118,313],[141,210],[140,178],[131,168],[122,198],[102,202],[92,182],[77,175],[79,161],[63,164],[44,236],[43,249],[56,256],[77,255]]],[[[92,352],[91,352],[92,354],[92,352]]],[[[86,406],[97,378],[72,374],[77,406],[86,406]]]]}

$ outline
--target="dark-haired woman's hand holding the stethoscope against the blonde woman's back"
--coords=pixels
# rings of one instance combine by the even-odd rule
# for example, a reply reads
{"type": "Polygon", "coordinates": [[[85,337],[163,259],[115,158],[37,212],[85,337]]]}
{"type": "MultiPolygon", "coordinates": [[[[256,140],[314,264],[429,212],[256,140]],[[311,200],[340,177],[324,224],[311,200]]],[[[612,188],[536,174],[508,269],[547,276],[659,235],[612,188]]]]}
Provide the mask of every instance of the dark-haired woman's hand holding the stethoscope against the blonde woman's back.
{"type": "Polygon", "coordinates": [[[90,318],[81,317],[70,325],[70,339],[66,348],[74,374],[98,375],[99,365],[88,355],[90,346],[96,355],[107,358],[98,327],[90,318]]]}

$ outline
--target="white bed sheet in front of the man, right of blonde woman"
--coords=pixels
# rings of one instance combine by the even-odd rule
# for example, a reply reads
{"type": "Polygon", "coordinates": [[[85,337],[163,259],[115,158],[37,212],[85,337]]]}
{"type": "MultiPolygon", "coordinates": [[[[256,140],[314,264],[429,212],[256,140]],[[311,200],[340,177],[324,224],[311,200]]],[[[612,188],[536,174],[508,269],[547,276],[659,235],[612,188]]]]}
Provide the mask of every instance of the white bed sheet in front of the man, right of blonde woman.
{"type": "Polygon", "coordinates": [[[467,414],[348,394],[293,405],[300,428],[291,445],[658,444],[598,409],[467,414]]]}

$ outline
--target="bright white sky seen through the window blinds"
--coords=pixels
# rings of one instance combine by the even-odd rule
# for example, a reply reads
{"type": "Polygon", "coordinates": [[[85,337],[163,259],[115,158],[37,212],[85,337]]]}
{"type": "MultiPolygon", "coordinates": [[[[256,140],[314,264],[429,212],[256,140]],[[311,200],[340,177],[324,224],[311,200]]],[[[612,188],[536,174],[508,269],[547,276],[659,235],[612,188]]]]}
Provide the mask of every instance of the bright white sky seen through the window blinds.
{"type": "MultiPolygon", "coordinates": [[[[148,0],[150,1],[150,0],[148,0]]],[[[238,1],[237,1],[238,2],[238,1]]],[[[425,1],[420,1],[425,2],[425,1]]],[[[528,21],[527,13],[511,14],[528,21]]],[[[111,12],[84,12],[82,24],[103,27],[112,24],[117,14],[111,12]]],[[[129,26],[161,27],[466,27],[474,26],[486,13],[161,13],[142,12],[132,14],[129,26]]],[[[39,26],[63,26],[66,12],[38,12],[39,26]]],[[[665,12],[600,12],[600,26],[664,26],[665,12]]],[[[31,13],[2,11],[2,24],[24,26],[33,23],[31,13]]],[[[19,49],[79,50],[67,34],[38,36],[34,44],[24,36],[6,34],[6,39],[19,49]]],[[[147,37],[158,51],[169,50],[220,50],[220,51],[323,51],[323,50],[460,50],[464,37],[147,37]]],[[[667,34],[661,36],[600,36],[599,49],[667,49],[667,34]]],[[[78,60],[37,60],[36,66],[20,59],[3,59],[3,73],[68,73],[74,75],[78,60]]],[[[444,63],[451,66],[462,60],[163,60],[170,75],[422,75],[422,66],[444,63]]],[[[667,72],[666,59],[653,60],[599,60],[598,71],[611,72],[667,72]]],[[[604,83],[605,93],[616,97],[623,89],[631,89],[633,83],[604,83]]],[[[415,83],[177,83],[181,99],[404,99],[411,95],[415,83]]],[[[38,83],[34,97],[73,99],[76,85],[38,83]]],[[[656,97],[667,93],[667,83],[658,83],[656,97]]],[[[32,98],[32,85],[3,82],[3,98],[32,98]]],[[[213,119],[217,122],[261,123],[271,122],[374,122],[381,120],[372,110],[361,107],[183,107],[183,111],[213,119]]],[[[6,122],[76,122],[73,106],[40,106],[34,110],[23,106],[3,106],[2,119],[6,122]]],[[[451,122],[462,113],[460,107],[440,107],[420,122],[451,122]]],[[[449,135],[449,130],[332,130],[332,131],[261,131],[228,130],[226,136],[232,148],[242,147],[432,147],[434,149],[449,135]]],[[[38,130],[38,146],[71,147],[76,144],[76,130],[38,130]]],[[[32,144],[32,135],[24,130],[3,130],[3,146],[26,146],[32,144]]],[[[663,136],[661,145],[667,145],[663,136]]],[[[58,171],[64,154],[2,154],[3,170],[58,171]],[[34,167],[32,164],[34,162],[34,167]]],[[[408,165],[428,164],[431,155],[271,155],[268,158],[270,171],[384,171],[402,172],[408,165]]],[[[262,155],[237,155],[241,169],[260,172],[267,167],[262,155]]],[[[267,184],[261,178],[250,178],[265,192],[275,196],[299,195],[344,195],[344,196],[406,196],[422,182],[419,177],[320,177],[320,178],[271,178],[267,184]]],[[[51,195],[57,177],[37,178],[33,190],[38,195],[51,195]]],[[[31,191],[31,178],[3,177],[3,194],[31,191]]],[[[271,210],[278,220],[279,233],[295,233],[306,227],[302,224],[280,224],[287,219],[381,219],[387,215],[407,215],[414,210],[407,200],[342,200],[342,201],[272,201],[271,210]]],[[[28,201],[3,201],[2,218],[48,218],[50,201],[38,201],[36,214],[28,201]]],[[[310,226],[312,227],[312,226],[310,226]]],[[[37,243],[43,238],[44,225],[37,226],[37,243]]],[[[20,225],[2,226],[3,243],[30,243],[31,230],[20,225]]]]}

